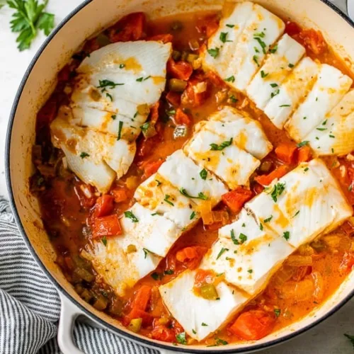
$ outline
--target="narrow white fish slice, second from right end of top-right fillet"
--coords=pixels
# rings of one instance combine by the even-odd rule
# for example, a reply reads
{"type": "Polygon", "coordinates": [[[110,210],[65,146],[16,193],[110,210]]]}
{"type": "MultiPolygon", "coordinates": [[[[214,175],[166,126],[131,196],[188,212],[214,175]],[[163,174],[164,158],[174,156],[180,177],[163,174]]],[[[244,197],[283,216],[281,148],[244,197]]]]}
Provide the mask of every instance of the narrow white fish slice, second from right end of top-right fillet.
{"type": "Polygon", "coordinates": [[[335,67],[321,64],[319,76],[305,101],[299,105],[285,129],[292,139],[300,142],[323,122],[341,98],[349,91],[353,80],[335,67]]]}

